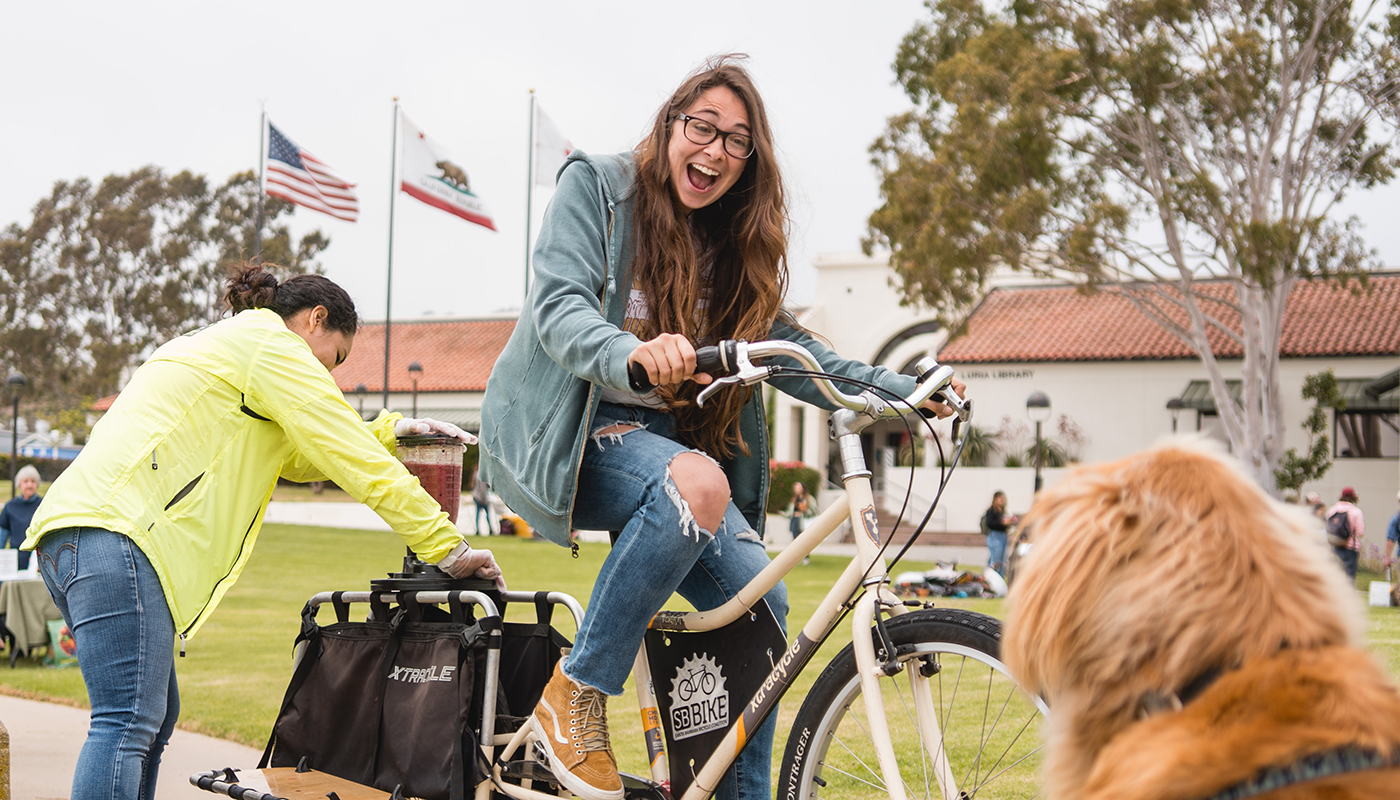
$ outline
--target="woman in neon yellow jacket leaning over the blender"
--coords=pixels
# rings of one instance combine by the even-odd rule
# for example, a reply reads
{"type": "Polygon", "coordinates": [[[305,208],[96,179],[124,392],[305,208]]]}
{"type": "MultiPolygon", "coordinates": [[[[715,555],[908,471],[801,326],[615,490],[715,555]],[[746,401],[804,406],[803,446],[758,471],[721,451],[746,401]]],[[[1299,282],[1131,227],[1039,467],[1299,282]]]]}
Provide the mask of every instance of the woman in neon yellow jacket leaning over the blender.
{"type": "Polygon", "coordinates": [[[167,342],[132,375],[24,542],[92,703],[73,800],[154,796],[179,716],[175,640],[183,650],[238,580],[279,476],[335,481],[423,560],[500,577],[393,457],[396,436],[472,437],[388,412],[367,426],[330,378],[360,325],[350,296],[319,275],[279,283],[244,266],[224,300],[231,318],[167,342]]]}

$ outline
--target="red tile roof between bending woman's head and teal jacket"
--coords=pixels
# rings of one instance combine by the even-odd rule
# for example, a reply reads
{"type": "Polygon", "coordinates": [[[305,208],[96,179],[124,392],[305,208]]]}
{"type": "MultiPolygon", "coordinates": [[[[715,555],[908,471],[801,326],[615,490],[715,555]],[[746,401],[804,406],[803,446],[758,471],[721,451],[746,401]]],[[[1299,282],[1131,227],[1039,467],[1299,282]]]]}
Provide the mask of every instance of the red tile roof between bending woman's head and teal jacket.
{"type": "MultiPolygon", "coordinates": [[[[413,389],[409,364],[423,366],[420,392],[480,392],[496,357],[515,329],[515,319],[455,319],[393,322],[389,335],[389,391],[413,389]]],[[[384,324],[365,325],[354,338],[346,363],[330,375],[342,391],[364,384],[370,394],[384,391],[384,324]]]]}

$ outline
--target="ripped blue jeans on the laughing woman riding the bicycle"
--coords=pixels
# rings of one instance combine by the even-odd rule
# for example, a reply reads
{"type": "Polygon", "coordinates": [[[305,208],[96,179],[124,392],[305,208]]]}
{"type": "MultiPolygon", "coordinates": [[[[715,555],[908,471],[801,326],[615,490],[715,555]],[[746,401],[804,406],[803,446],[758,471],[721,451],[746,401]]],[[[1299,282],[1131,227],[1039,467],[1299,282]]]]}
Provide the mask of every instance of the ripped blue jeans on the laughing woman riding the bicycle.
{"type": "MultiPolygon", "coordinates": [[[[769,565],[763,542],[731,502],[718,531],[706,531],[671,478],[671,461],[694,453],[675,440],[675,418],[652,409],[601,404],[589,430],[616,423],[643,427],[594,433],[584,447],[574,527],[620,531],[588,601],[588,614],[564,674],[620,695],[647,623],[679,591],[699,609],[722,605],[769,565]]],[[[787,587],[764,595],[787,630],[787,587]]],[[[715,790],[721,800],[769,800],[777,715],[750,737],[715,790]]]]}

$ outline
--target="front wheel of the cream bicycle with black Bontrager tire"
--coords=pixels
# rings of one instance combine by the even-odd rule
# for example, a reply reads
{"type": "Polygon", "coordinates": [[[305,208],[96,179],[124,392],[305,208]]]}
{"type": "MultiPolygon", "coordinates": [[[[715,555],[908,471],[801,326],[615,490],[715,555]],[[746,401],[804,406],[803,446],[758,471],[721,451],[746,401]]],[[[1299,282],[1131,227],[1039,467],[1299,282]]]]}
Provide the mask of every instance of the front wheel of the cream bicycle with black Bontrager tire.
{"type": "MultiPolygon", "coordinates": [[[[906,796],[1039,797],[1046,706],[1001,663],[1001,622],[939,608],[896,616],[885,628],[903,670],[881,680],[879,702],[906,796]],[[920,684],[928,689],[923,702],[916,701],[920,684]]],[[[797,715],[778,773],[780,799],[888,793],[871,740],[869,702],[847,644],[797,715]]]]}

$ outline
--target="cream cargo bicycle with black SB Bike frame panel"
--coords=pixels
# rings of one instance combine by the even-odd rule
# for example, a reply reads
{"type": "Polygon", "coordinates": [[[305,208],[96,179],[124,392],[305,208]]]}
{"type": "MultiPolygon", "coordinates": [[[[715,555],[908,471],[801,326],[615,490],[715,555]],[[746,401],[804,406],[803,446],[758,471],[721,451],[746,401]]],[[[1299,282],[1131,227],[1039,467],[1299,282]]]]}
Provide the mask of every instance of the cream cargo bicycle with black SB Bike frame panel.
{"type": "MultiPolygon", "coordinates": [[[[776,713],[795,677],[847,615],[851,642],[816,678],[788,734],[776,780],[780,799],[1037,796],[1046,705],[1018,687],[1002,664],[1001,623],[995,618],[902,600],[890,590],[890,539],[881,534],[871,472],[861,450],[860,434],[871,423],[904,416],[931,398],[955,409],[958,441],[972,404],[949,389],[952,368],[924,359],[916,389],[907,398],[888,398],[875,387],[847,394],[833,381],[848,385],[848,378],[822,373],[819,361],[791,342],[722,342],[703,347],[699,356],[700,371],[721,375],[700,394],[701,404],[727,385],[752,385],[774,375],[812,380],[839,406],[830,418],[830,434],[846,496],[809,521],[727,604],[654,616],[633,670],[650,769],[647,776],[624,775],[629,800],[708,797],[748,736],[776,713]],[[784,640],[763,595],[847,521],[855,532],[855,558],[801,630],[784,640]]],[[[906,551],[907,545],[895,560],[906,551]]],[[[452,591],[413,594],[413,602],[430,604],[454,597],[452,591]]],[[[496,600],[529,597],[536,595],[505,593],[493,598],[490,591],[461,591],[455,602],[475,604],[491,618],[497,614],[496,600]]],[[[573,598],[554,593],[549,597],[581,615],[573,598]]],[[[374,601],[374,593],[365,598],[343,594],[340,600],[374,601]]],[[[395,600],[402,598],[385,593],[378,602],[395,600]]],[[[497,724],[491,684],[497,678],[498,661],[491,661],[497,651],[487,649],[489,684],[476,724],[480,757],[472,792],[477,800],[567,794],[535,755],[529,726],[519,724],[519,719],[497,724]]],[[[211,771],[190,780],[244,800],[280,797],[272,786],[263,792],[244,775],[211,771]]],[[[358,789],[351,785],[337,796],[391,797],[386,792],[349,793],[358,789]]]]}

